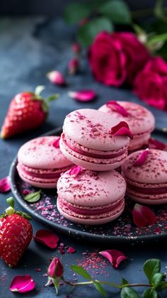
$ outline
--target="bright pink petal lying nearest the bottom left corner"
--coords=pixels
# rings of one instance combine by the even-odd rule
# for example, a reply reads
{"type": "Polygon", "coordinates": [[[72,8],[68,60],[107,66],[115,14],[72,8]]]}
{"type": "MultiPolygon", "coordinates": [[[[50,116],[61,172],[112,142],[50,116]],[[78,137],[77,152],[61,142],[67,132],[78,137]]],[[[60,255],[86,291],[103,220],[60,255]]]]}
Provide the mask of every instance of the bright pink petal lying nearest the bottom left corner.
{"type": "Polygon", "coordinates": [[[16,275],[10,285],[11,292],[26,293],[35,288],[35,282],[30,275],[16,275]]]}

